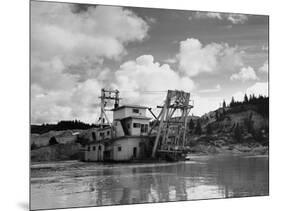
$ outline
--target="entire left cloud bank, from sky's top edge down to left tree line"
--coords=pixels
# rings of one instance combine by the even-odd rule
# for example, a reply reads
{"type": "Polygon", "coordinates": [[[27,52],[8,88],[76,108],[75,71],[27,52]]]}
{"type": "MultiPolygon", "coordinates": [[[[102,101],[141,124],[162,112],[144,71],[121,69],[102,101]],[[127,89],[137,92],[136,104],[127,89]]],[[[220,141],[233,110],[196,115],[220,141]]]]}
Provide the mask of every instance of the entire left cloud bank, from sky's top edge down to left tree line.
{"type": "Polygon", "coordinates": [[[122,7],[31,2],[31,121],[93,122],[100,89],[112,80],[105,59],[147,37],[148,24],[122,7]]]}

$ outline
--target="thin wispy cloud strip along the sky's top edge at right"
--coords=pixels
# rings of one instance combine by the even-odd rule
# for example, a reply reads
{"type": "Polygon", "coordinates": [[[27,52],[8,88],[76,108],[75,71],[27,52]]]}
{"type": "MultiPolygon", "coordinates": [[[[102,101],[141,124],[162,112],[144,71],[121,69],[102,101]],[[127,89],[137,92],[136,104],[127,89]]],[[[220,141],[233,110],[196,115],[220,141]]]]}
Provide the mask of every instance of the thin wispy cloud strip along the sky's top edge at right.
{"type": "Polygon", "coordinates": [[[218,12],[195,12],[189,17],[192,19],[217,19],[217,20],[227,20],[232,24],[243,24],[248,20],[248,16],[244,14],[234,14],[234,13],[218,13],[218,12]]]}

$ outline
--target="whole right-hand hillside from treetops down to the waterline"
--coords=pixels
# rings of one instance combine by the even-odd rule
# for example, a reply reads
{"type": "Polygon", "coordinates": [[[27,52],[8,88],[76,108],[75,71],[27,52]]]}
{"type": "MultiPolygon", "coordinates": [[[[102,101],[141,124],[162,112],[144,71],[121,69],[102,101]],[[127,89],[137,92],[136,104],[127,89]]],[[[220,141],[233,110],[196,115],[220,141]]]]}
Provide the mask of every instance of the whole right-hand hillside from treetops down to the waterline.
{"type": "Polygon", "coordinates": [[[232,102],[189,122],[193,153],[268,153],[269,99],[232,102]]]}

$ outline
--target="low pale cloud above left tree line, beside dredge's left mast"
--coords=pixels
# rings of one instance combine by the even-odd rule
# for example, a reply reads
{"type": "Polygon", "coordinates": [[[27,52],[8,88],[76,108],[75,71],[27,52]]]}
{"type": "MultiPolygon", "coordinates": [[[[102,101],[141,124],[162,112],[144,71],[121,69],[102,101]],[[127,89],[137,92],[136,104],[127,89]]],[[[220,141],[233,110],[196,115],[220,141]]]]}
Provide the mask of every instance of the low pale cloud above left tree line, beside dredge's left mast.
{"type": "Polygon", "coordinates": [[[79,119],[94,122],[99,115],[98,96],[102,85],[91,79],[71,90],[45,92],[40,86],[31,86],[31,122],[57,122],[79,119]]]}

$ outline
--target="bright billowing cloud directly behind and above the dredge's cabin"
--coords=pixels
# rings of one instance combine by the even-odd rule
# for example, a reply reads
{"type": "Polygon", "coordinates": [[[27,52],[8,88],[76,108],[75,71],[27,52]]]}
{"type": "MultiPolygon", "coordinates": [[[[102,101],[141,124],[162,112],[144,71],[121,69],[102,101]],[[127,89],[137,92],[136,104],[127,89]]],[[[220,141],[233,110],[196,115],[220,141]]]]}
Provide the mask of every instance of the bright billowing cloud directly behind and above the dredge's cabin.
{"type": "Polygon", "coordinates": [[[167,64],[160,65],[151,55],[125,62],[115,78],[113,87],[126,95],[125,102],[152,107],[163,103],[168,89],[191,91],[195,86],[189,77],[179,75],[167,64]]]}

